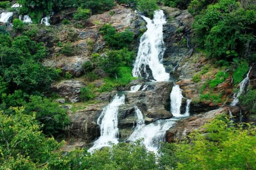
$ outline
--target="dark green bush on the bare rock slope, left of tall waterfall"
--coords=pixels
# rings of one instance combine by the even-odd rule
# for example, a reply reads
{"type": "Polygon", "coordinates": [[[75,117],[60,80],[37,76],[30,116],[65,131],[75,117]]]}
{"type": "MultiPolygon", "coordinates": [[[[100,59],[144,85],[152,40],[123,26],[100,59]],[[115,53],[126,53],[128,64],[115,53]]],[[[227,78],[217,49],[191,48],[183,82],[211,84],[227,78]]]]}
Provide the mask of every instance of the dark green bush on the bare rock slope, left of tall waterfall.
{"type": "Polygon", "coordinates": [[[134,33],[129,31],[129,29],[125,29],[124,32],[116,32],[116,29],[111,24],[104,24],[99,30],[106,44],[116,49],[128,47],[128,44],[132,42],[134,37],[134,33]]]}

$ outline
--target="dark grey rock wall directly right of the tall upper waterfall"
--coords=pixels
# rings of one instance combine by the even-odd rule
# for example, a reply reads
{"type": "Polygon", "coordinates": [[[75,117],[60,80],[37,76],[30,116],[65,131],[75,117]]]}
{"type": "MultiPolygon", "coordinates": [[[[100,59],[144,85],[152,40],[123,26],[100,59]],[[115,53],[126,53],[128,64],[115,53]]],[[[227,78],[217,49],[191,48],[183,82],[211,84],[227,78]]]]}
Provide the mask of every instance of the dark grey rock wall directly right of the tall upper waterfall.
{"type": "Polygon", "coordinates": [[[163,64],[168,72],[175,72],[175,68],[183,56],[192,48],[190,39],[192,33],[193,16],[187,11],[177,8],[163,7],[167,23],[163,25],[163,40],[166,51],[163,64]]]}

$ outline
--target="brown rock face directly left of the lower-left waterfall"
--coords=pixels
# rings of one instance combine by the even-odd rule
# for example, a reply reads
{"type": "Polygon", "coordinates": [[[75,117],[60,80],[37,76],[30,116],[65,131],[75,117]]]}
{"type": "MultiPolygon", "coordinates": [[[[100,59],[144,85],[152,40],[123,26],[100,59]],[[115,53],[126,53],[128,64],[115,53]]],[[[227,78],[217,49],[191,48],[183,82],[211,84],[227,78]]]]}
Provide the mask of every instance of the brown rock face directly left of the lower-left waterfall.
{"type": "Polygon", "coordinates": [[[87,143],[100,136],[97,119],[106,103],[94,104],[84,110],[69,114],[70,124],[65,128],[69,137],[82,138],[87,143]]]}

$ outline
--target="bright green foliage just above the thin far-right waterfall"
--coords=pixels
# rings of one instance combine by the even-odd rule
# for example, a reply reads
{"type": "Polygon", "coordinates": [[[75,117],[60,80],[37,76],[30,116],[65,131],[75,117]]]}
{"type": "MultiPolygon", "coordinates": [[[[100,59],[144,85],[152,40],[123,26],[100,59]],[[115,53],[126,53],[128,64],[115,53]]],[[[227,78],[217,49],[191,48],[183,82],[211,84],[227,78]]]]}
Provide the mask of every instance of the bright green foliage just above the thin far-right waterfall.
{"type": "Polygon", "coordinates": [[[234,84],[238,84],[244,79],[244,75],[246,75],[246,73],[249,71],[249,65],[246,61],[240,61],[235,65],[237,66],[236,70],[233,73],[233,80],[234,84]]]}

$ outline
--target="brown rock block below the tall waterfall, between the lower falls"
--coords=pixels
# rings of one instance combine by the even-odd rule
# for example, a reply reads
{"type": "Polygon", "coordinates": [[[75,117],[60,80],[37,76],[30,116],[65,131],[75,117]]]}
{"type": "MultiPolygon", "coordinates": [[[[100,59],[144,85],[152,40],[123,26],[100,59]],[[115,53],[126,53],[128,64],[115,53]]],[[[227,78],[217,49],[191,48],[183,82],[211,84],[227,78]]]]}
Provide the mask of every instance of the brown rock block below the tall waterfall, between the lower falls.
{"type": "Polygon", "coordinates": [[[125,103],[136,105],[148,122],[172,117],[169,110],[173,82],[152,82],[148,86],[145,91],[140,91],[143,84],[139,91],[125,94],[125,103]]]}

